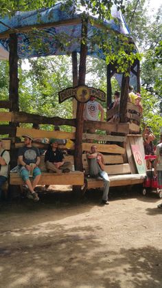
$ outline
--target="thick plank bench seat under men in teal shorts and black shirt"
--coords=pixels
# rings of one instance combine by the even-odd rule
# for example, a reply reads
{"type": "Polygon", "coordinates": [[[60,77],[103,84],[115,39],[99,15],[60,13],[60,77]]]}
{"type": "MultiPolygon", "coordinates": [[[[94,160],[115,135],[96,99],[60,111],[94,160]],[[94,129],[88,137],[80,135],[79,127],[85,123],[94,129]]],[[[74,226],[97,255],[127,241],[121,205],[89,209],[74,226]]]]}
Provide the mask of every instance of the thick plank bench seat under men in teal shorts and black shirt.
{"type": "MultiPolygon", "coordinates": [[[[24,182],[19,176],[19,173],[10,173],[10,185],[23,185],[24,182]]],[[[84,185],[84,173],[80,171],[71,171],[70,173],[43,172],[38,183],[39,185],[84,185]]]]}

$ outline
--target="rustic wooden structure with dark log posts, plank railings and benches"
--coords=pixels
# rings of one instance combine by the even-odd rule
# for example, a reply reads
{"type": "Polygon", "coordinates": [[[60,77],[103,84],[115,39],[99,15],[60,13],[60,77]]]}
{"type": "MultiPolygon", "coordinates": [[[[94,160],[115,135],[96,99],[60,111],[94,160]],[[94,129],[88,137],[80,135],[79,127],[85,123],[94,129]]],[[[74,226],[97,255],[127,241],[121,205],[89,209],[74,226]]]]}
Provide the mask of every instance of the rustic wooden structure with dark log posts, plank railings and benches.
{"type": "MultiPolygon", "coordinates": [[[[73,71],[73,87],[84,86],[85,76],[86,76],[86,56],[87,56],[87,27],[89,23],[88,18],[82,18],[80,16],[80,24],[82,25],[81,38],[80,40],[80,63],[78,69],[78,57],[77,52],[71,52],[72,59],[72,71],[73,71]]],[[[71,24],[71,19],[67,21],[66,25],[71,24]]],[[[58,24],[56,22],[49,23],[49,27],[56,27],[58,24]]],[[[63,25],[59,23],[59,25],[63,25]]],[[[65,25],[65,23],[64,23],[65,25]]],[[[91,25],[93,25],[91,23],[91,25]]],[[[94,22],[94,26],[97,24],[94,22]]],[[[91,139],[93,142],[97,143],[97,150],[104,154],[104,159],[106,163],[106,172],[110,175],[111,186],[121,186],[121,185],[131,185],[137,184],[143,181],[143,175],[137,172],[137,167],[135,165],[135,159],[132,153],[132,145],[137,145],[139,147],[141,157],[144,160],[144,149],[143,140],[140,135],[140,116],[139,108],[132,103],[128,103],[128,87],[129,87],[129,76],[128,71],[126,74],[122,74],[122,89],[121,89],[121,100],[120,105],[117,107],[119,111],[119,123],[109,123],[109,122],[92,122],[84,121],[83,111],[84,103],[76,102],[76,115],[73,115],[73,119],[62,119],[59,117],[48,118],[42,115],[33,115],[30,113],[25,113],[19,111],[19,78],[18,78],[18,34],[21,32],[32,33],[32,29],[43,29],[43,25],[37,24],[36,26],[16,27],[16,30],[8,30],[6,33],[1,33],[0,38],[9,39],[10,47],[10,85],[9,85],[9,98],[8,100],[0,100],[0,135],[7,135],[4,140],[6,147],[11,153],[11,168],[16,165],[16,151],[22,146],[19,138],[27,133],[30,133],[33,137],[55,137],[58,139],[69,139],[73,140],[75,147],[73,149],[73,157],[71,162],[75,166],[74,172],[71,172],[68,177],[62,177],[59,175],[47,175],[43,174],[41,184],[70,184],[73,186],[84,185],[84,176],[89,174],[88,164],[86,162],[85,154],[86,151],[90,150],[91,143],[86,142],[86,139],[91,139]],[[132,111],[134,111],[132,113],[132,111]],[[137,113],[136,113],[137,112],[137,113]],[[21,124],[23,123],[34,123],[34,124],[54,124],[54,125],[66,125],[75,128],[75,132],[62,132],[62,131],[43,131],[36,129],[23,129],[21,124]],[[96,131],[102,131],[95,134],[83,133],[83,129],[96,129],[96,131]],[[9,148],[10,146],[10,148],[9,148]],[[83,153],[84,152],[84,153],[83,153]],[[84,171],[84,175],[83,175],[84,171]],[[74,177],[76,173],[76,176],[74,177]],[[51,180],[50,180],[51,179],[51,180]],[[76,179],[76,181],[75,181],[76,179]],[[48,183],[47,183],[48,182],[48,183]]],[[[45,27],[48,27],[48,23],[45,27]]],[[[115,33],[115,32],[113,32],[115,33]]],[[[132,39],[128,38],[128,45],[135,45],[132,39]]],[[[140,65],[139,60],[131,65],[129,72],[135,75],[137,79],[137,92],[140,92],[140,65]],[[136,67],[136,68],[135,68],[136,67]]],[[[107,107],[108,104],[112,102],[112,88],[111,88],[111,78],[117,73],[117,63],[107,65],[107,107]]],[[[107,119],[113,117],[117,112],[115,109],[107,111],[107,119]]],[[[43,147],[43,144],[34,143],[38,147],[43,147]]],[[[47,146],[44,145],[44,148],[47,146]]],[[[62,147],[65,148],[65,147],[62,147]]],[[[43,171],[45,173],[45,171],[43,171]]],[[[21,179],[18,181],[17,175],[11,175],[10,184],[21,184],[21,179]]],[[[87,188],[98,188],[102,186],[100,179],[94,181],[86,178],[87,188]],[[97,184],[95,183],[97,182],[97,184]]]]}

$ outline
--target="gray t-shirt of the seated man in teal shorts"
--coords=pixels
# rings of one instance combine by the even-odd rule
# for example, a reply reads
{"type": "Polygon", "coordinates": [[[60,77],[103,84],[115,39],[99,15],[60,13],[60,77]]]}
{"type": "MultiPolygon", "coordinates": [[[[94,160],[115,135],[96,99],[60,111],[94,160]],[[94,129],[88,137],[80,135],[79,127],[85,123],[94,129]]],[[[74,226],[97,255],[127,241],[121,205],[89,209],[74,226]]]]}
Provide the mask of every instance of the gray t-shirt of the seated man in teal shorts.
{"type": "Polygon", "coordinates": [[[40,157],[40,153],[36,147],[24,146],[19,148],[18,156],[23,156],[23,162],[29,165],[30,163],[36,163],[37,157],[40,157]]]}

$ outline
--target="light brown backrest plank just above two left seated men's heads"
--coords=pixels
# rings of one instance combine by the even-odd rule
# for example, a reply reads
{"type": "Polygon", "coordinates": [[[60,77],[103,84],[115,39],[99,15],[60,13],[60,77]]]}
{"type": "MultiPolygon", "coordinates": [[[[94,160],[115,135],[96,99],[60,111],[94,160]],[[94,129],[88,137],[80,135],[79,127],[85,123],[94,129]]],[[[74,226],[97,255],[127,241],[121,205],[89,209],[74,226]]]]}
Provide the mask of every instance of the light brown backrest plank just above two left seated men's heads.
{"type": "Polygon", "coordinates": [[[57,138],[57,139],[75,139],[75,133],[64,132],[64,131],[45,131],[38,129],[29,129],[17,127],[16,136],[21,137],[22,135],[30,134],[34,138],[57,138]]]}

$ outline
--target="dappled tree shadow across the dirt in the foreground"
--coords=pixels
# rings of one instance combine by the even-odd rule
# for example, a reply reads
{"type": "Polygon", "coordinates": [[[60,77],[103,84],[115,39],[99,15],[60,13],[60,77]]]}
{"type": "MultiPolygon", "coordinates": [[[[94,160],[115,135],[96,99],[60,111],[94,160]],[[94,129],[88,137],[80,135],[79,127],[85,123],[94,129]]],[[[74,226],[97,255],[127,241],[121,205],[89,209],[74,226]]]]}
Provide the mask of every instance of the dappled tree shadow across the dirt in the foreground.
{"type": "Polygon", "coordinates": [[[21,243],[0,250],[0,286],[161,287],[162,250],[103,250],[97,229],[43,223],[17,231],[21,243]]]}

